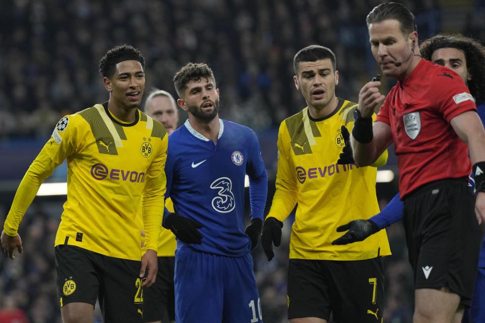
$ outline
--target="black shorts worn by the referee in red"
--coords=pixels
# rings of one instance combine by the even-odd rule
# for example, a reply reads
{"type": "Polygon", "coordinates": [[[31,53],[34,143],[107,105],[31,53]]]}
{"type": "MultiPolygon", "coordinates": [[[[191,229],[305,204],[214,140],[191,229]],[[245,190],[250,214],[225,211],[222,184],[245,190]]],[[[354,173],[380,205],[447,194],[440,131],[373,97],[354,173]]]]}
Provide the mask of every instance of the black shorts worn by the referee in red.
{"type": "Polygon", "coordinates": [[[483,242],[466,180],[434,181],[404,198],[403,225],[415,288],[449,288],[470,306],[483,242]]]}

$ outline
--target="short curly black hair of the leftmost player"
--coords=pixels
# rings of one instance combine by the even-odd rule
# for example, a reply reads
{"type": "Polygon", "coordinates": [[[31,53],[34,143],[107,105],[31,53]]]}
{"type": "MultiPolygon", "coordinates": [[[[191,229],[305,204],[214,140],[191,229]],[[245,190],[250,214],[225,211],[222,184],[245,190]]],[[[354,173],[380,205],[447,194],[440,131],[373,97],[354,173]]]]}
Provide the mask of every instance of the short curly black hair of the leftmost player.
{"type": "Polygon", "coordinates": [[[108,50],[100,61],[100,74],[103,77],[112,77],[115,74],[116,64],[124,61],[138,61],[145,68],[145,59],[141,52],[131,45],[118,45],[108,50]]]}

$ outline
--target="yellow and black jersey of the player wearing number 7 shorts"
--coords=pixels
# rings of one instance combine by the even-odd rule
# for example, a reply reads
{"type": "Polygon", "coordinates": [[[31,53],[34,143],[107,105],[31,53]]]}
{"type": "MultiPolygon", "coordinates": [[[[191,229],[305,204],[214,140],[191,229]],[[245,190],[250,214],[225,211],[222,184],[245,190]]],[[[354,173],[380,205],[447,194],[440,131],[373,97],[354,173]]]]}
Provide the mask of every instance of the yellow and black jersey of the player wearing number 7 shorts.
{"type": "MultiPolygon", "coordinates": [[[[379,212],[377,169],[337,164],[344,146],[341,126],[351,131],[356,108],[356,103],[339,99],[332,114],[312,120],[306,107],[279,127],[276,192],[268,217],[283,221],[298,203],[290,258],[361,260],[391,254],[385,230],[362,242],[331,244],[343,234],[336,232],[338,226],[379,212]]],[[[386,160],[387,151],[374,166],[386,160]]]]}

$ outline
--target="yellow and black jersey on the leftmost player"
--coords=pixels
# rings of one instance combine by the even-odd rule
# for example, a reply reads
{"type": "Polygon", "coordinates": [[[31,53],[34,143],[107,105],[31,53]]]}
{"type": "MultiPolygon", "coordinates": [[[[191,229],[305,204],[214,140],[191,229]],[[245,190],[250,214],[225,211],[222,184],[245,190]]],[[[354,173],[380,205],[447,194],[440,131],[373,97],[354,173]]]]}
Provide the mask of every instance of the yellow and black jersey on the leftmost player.
{"type": "Polygon", "coordinates": [[[4,230],[17,233],[38,187],[67,158],[67,201],[55,245],[139,260],[140,230],[146,248],[157,250],[166,157],[165,128],[139,110],[130,124],[117,120],[107,102],[68,115],[25,174],[4,230]],[[142,217],[137,217],[140,203],[142,217]]]}

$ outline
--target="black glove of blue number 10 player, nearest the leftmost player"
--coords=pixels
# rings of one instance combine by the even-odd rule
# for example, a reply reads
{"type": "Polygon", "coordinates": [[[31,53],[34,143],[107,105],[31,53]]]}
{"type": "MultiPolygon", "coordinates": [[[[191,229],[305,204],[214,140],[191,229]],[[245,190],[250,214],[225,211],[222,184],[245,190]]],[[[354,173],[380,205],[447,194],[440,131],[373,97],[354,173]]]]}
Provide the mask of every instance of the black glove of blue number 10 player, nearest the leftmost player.
{"type": "Polygon", "coordinates": [[[204,227],[191,219],[169,213],[163,217],[163,227],[170,229],[175,237],[184,243],[202,244],[202,234],[197,229],[204,227]]]}

